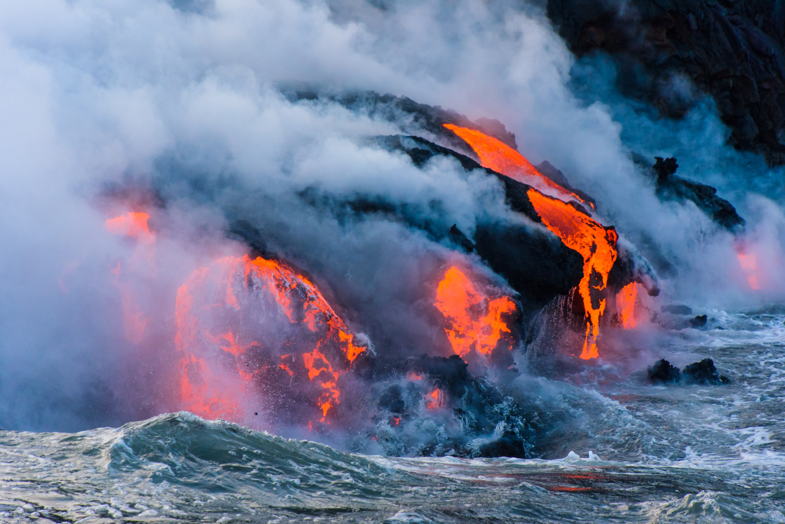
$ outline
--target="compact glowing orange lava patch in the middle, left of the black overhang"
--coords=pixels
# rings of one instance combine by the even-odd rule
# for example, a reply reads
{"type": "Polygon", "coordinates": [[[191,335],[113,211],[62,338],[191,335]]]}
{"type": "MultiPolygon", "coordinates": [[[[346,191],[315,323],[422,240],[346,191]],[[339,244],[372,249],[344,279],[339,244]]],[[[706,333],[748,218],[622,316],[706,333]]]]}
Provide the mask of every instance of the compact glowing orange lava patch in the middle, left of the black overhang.
{"type": "Polygon", "coordinates": [[[436,289],[434,306],[448,323],[444,331],[459,357],[472,349],[480,354],[491,353],[502,332],[510,332],[502,314],[515,311],[515,302],[507,297],[489,299],[476,291],[469,278],[455,266],[444,273],[436,289]]]}

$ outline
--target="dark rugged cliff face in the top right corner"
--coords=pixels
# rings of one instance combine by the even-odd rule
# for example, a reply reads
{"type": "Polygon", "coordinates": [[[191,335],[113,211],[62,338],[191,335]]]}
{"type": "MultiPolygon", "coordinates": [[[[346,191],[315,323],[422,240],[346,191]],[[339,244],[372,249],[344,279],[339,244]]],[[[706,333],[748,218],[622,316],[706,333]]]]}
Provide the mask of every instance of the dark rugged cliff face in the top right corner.
{"type": "Polygon", "coordinates": [[[785,163],[785,0],[549,0],[579,56],[608,53],[619,87],[677,118],[687,76],[710,94],[737,148],[785,163]]]}

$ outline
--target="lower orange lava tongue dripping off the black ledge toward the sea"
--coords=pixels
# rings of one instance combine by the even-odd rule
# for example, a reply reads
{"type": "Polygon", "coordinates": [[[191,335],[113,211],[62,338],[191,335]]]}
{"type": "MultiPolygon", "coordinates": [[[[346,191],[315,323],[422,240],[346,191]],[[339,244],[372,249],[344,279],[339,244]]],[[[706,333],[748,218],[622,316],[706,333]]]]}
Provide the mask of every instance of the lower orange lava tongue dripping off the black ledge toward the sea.
{"type": "Polygon", "coordinates": [[[542,223],[583,257],[583,278],[578,291],[586,310],[586,342],[583,343],[581,358],[597,358],[597,335],[600,334],[600,317],[605,311],[605,299],[592,297],[592,290],[601,291],[608,284],[608,273],[616,262],[616,240],[619,236],[613,228],[605,229],[586,214],[568,203],[545,196],[536,189],[529,189],[529,200],[542,218],[542,223]],[[600,277],[600,281],[596,282],[600,277]],[[593,284],[594,283],[594,284],[593,284]]]}

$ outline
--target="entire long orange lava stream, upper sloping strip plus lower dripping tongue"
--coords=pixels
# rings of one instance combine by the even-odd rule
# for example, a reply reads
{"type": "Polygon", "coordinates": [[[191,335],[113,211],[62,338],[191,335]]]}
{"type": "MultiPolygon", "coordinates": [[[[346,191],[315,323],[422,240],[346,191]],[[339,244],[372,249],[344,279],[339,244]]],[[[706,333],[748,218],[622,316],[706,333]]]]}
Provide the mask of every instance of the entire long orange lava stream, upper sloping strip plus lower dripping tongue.
{"type": "MultiPolygon", "coordinates": [[[[444,126],[469,143],[484,167],[528,184],[531,184],[533,177],[540,177],[542,183],[550,189],[557,189],[565,199],[580,200],[578,196],[556,182],[542,177],[542,174],[523,155],[509,145],[480,131],[452,124],[444,124],[444,126]]],[[[542,223],[559,236],[564,245],[578,251],[583,257],[583,278],[578,284],[578,291],[586,310],[586,341],[583,343],[580,357],[583,359],[599,357],[597,335],[600,333],[600,317],[605,310],[605,299],[597,299],[597,306],[595,306],[592,290],[601,291],[608,285],[608,273],[616,261],[616,240],[619,236],[614,229],[604,228],[570,204],[543,195],[537,189],[529,189],[528,196],[535,211],[542,218],[542,223]],[[600,277],[599,282],[595,282],[597,280],[595,274],[600,277]]]]}

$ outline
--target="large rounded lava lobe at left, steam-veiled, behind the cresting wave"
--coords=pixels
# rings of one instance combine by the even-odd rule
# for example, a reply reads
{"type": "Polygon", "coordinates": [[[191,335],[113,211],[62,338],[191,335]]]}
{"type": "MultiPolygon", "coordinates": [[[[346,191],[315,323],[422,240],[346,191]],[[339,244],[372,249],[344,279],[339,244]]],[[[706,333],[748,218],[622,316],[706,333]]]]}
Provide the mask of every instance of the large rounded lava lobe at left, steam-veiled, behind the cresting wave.
{"type": "Polygon", "coordinates": [[[254,398],[253,384],[280,369],[290,377],[288,387],[305,391],[307,381],[321,390],[314,404],[324,422],[339,403],[339,377],[367,349],[307,277],[261,257],[224,257],[196,269],[177,291],[175,318],[181,399],[185,409],[206,418],[239,420],[243,398],[254,398]],[[254,325],[255,315],[277,315],[299,331],[254,325]],[[213,324],[228,330],[212,335],[213,324]],[[257,336],[266,336],[265,343],[257,336]],[[278,354],[285,347],[287,354],[278,354]],[[218,357],[216,350],[234,358],[218,357]]]}

